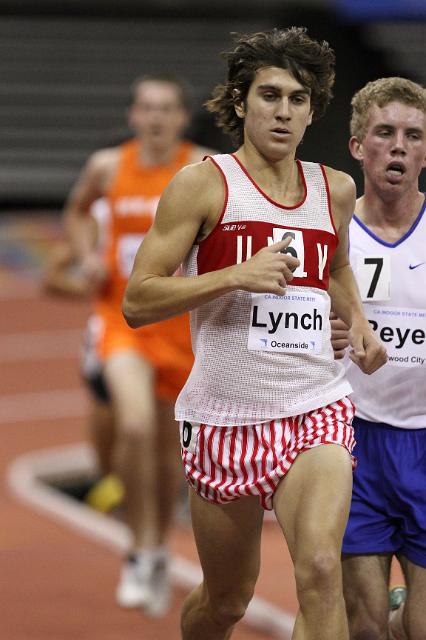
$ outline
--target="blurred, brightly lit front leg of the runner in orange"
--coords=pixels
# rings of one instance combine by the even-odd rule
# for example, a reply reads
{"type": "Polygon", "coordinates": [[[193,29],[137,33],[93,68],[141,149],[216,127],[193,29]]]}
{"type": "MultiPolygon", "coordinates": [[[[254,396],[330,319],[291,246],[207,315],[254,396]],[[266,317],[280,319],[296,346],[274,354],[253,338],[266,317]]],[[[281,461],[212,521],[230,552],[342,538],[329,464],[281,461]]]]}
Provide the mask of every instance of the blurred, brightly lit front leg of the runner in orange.
{"type": "Polygon", "coordinates": [[[125,488],[132,547],[153,547],[158,543],[153,370],[129,350],[107,358],[105,376],[116,411],[114,465],[125,488]]]}

